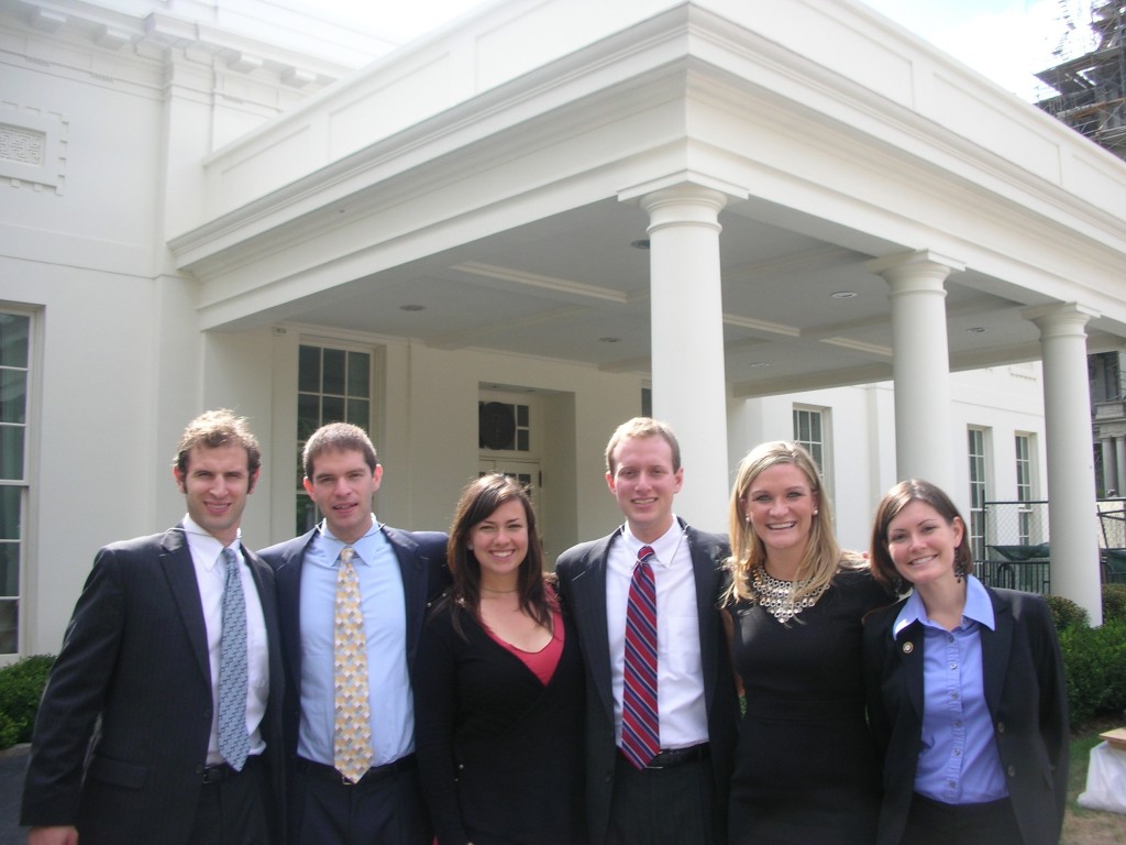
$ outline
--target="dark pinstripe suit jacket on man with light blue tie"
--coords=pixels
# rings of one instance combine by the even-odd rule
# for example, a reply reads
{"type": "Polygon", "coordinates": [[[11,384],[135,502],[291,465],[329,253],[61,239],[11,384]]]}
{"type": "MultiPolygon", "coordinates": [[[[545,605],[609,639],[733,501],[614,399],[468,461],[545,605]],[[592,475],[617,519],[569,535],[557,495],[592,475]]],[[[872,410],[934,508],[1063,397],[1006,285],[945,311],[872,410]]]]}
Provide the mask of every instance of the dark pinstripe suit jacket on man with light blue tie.
{"type": "MultiPolygon", "coordinates": [[[[250,551],[243,555],[269,641],[261,731],[276,790],[268,813],[280,842],[283,674],[274,573],[250,551]]],[[[182,528],[101,549],[43,694],[20,824],[77,825],[82,845],[187,842],[211,724],[207,631],[182,528]]]]}

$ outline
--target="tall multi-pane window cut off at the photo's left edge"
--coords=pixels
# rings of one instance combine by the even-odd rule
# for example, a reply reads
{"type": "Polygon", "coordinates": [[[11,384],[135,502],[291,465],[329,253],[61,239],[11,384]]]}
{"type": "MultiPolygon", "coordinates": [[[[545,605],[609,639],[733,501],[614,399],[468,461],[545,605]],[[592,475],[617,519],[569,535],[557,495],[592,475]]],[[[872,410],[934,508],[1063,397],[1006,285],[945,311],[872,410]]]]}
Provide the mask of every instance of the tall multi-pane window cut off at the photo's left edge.
{"type": "Polygon", "coordinates": [[[0,653],[19,650],[32,318],[0,313],[0,653]]]}

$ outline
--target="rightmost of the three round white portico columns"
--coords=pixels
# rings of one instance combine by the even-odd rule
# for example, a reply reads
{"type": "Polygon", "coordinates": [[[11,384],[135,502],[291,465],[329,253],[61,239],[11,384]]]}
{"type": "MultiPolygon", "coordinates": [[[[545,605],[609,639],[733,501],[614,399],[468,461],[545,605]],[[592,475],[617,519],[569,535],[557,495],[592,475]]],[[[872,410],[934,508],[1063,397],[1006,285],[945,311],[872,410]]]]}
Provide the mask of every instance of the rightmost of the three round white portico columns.
{"type": "Polygon", "coordinates": [[[1098,512],[1087,331],[1097,312],[1069,303],[1029,309],[1044,348],[1044,424],[1052,532],[1052,593],[1070,598],[1102,624],[1098,512]]]}

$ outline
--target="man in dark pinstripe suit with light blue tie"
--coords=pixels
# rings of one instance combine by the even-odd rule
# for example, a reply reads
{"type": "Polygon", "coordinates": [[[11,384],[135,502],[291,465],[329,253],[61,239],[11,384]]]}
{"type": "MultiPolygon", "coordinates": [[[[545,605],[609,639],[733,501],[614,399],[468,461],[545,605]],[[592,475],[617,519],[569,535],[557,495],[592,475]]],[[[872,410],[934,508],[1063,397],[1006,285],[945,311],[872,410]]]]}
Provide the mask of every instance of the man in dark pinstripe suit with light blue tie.
{"type": "Polygon", "coordinates": [[[98,552],[35,723],[32,845],[280,842],[274,576],[239,540],[260,461],[245,420],[197,417],[187,516],[98,552]]]}

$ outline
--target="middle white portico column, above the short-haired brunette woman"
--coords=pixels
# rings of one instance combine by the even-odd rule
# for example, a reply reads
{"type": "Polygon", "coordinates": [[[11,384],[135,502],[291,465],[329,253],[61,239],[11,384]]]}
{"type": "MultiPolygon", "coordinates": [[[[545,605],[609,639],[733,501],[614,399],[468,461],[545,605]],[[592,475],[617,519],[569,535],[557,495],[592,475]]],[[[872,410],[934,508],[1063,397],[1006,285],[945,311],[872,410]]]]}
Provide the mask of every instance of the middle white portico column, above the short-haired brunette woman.
{"type": "Polygon", "coordinates": [[[964,265],[929,251],[868,263],[892,288],[892,373],[895,381],[895,472],[921,478],[957,498],[950,420],[950,353],[946,288],[964,265]]]}

